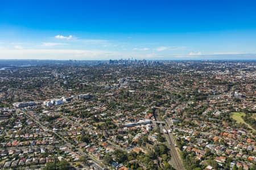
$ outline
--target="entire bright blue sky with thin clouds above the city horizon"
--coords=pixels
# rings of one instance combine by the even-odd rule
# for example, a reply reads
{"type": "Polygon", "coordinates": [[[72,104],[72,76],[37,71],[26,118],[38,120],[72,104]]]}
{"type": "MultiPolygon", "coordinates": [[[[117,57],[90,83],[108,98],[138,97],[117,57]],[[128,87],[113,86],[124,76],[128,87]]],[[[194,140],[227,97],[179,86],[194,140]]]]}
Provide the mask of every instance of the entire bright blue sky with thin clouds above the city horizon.
{"type": "Polygon", "coordinates": [[[256,59],[255,1],[0,1],[1,59],[256,59]]]}

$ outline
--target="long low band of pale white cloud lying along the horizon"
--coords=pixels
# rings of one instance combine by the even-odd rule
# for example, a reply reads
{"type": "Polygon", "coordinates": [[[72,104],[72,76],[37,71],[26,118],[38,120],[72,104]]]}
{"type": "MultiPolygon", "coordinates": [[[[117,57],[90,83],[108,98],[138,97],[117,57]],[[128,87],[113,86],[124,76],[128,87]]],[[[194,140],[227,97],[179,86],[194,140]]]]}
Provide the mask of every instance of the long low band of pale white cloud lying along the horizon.
{"type": "Polygon", "coordinates": [[[192,52],[189,54],[168,54],[159,55],[154,53],[122,53],[108,50],[77,50],[77,49],[1,49],[0,59],[254,59],[256,54],[237,54],[237,55],[210,55],[192,52]]]}

